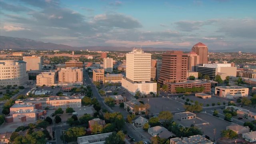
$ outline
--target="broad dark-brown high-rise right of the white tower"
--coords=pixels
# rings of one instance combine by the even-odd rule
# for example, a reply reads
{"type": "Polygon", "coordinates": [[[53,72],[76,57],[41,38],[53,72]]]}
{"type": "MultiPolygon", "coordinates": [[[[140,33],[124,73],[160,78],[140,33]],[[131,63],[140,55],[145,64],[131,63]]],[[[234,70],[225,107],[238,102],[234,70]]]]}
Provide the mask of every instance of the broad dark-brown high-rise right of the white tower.
{"type": "Polygon", "coordinates": [[[187,79],[188,55],[182,51],[167,51],[162,54],[162,68],[158,82],[182,82],[187,79]]]}

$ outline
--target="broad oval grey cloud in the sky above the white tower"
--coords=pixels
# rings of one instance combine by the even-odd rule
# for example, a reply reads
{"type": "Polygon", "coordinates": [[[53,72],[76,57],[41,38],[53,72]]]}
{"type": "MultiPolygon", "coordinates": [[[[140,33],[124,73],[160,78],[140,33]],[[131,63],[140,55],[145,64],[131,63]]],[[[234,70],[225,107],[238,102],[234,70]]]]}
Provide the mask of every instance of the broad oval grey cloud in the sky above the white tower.
{"type": "Polygon", "coordinates": [[[99,14],[94,16],[93,23],[100,26],[117,27],[117,28],[141,28],[142,24],[130,16],[124,14],[99,14]]]}

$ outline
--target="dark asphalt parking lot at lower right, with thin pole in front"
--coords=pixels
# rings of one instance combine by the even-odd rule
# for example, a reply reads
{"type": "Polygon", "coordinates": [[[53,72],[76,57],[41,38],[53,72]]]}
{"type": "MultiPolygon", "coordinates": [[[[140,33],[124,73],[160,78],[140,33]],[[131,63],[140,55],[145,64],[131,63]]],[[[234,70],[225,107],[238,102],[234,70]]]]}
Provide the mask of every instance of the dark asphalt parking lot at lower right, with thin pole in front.
{"type": "Polygon", "coordinates": [[[226,120],[219,119],[215,116],[205,114],[203,112],[196,113],[196,116],[198,118],[201,118],[205,120],[206,122],[209,122],[209,124],[206,125],[200,125],[200,128],[202,129],[203,134],[210,136],[210,138],[214,138],[214,129],[215,130],[215,140],[221,137],[221,131],[226,130],[226,126],[230,126],[232,123],[228,122],[226,120]]]}

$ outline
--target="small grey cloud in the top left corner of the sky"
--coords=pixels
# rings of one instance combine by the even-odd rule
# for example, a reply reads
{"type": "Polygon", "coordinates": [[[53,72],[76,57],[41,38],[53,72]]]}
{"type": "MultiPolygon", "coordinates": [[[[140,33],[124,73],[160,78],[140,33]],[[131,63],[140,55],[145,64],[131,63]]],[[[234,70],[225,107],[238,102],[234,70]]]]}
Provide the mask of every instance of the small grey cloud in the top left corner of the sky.
{"type": "Polygon", "coordinates": [[[25,6],[15,6],[15,5],[12,5],[12,4],[7,4],[6,2],[3,2],[1,1],[1,4],[0,4],[0,8],[2,10],[8,10],[8,11],[11,11],[11,12],[28,12],[28,11],[32,11],[32,9],[30,8],[27,8],[25,6]]]}

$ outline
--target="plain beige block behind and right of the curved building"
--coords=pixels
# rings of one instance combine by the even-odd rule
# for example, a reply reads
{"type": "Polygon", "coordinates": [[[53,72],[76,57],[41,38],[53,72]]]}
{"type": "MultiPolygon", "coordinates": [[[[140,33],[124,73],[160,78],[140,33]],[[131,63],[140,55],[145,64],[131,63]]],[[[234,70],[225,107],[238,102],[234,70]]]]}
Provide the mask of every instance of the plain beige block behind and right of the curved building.
{"type": "Polygon", "coordinates": [[[42,57],[41,56],[23,56],[26,62],[26,70],[42,70],[42,57]]]}

